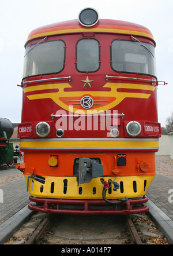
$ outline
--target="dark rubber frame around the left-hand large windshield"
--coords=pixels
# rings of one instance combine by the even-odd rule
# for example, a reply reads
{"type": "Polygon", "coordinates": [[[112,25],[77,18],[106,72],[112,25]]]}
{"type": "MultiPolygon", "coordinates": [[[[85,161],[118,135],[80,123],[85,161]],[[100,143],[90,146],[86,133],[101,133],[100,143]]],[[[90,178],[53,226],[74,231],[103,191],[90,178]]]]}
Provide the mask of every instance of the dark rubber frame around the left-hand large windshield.
{"type": "MultiPolygon", "coordinates": [[[[63,56],[62,69],[61,69],[60,71],[57,71],[57,72],[40,73],[40,74],[36,74],[36,75],[27,75],[27,76],[23,76],[23,75],[24,75],[24,70],[23,70],[23,74],[22,74],[23,78],[22,78],[22,80],[24,80],[24,79],[26,79],[26,78],[28,78],[28,77],[30,78],[30,77],[34,77],[34,76],[40,76],[40,75],[59,74],[60,72],[62,72],[62,71],[64,70],[64,68],[65,68],[65,61],[66,61],[66,43],[65,43],[65,41],[62,40],[62,39],[54,39],[54,40],[48,40],[48,41],[42,42],[42,43],[58,42],[58,41],[62,41],[63,44],[64,44],[64,46],[63,46],[63,49],[64,49],[64,56],[63,56]]],[[[36,42],[36,43],[31,43],[31,44],[28,45],[28,47],[31,47],[31,46],[34,47],[34,45],[36,45],[36,44],[37,44],[37,42],[36,42]]],[[[40,43],[40,44],[41,44],[41,43],[40,43]]],[[[38,44],[38,46],[39,46],[39,44],[38,44]]],[[[37,46],[36,46],[36,47],[37,47],[37,46]]],[[[26,50],[27,50],[27,47],[25,48],[25,52],[26,52],[26,50]]],[[[30,50],[31,50],[31,49],[30,49],[30,50]]],[[[32,50],[31,50],[31,51],[32,51],[32,50]]],[[[25,53],[25,55],[27,55],[27,54],[25,53]]],[[[25,65],[25,60],[24,60],[24,65],[25,65]]]]}

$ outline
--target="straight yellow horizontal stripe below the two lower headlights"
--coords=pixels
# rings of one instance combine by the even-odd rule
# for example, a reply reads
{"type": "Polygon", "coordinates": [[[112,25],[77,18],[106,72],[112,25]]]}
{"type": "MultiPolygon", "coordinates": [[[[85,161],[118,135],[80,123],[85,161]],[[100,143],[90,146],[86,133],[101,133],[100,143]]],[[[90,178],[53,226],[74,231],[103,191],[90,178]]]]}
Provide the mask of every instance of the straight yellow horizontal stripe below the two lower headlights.
{"type": "Polygon", "coordinates": [[[157,148],[158,141],[21,141],[21,148],[157,148]]]}

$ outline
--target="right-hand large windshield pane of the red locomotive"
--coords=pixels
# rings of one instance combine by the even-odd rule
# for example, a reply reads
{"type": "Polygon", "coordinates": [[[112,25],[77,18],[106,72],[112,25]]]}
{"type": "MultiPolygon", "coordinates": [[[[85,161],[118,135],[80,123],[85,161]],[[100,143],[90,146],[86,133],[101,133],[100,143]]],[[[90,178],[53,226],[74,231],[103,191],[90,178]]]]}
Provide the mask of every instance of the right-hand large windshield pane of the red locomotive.
{"type": "Polygon", "coordinates": [[[115,40],[111,46],[111,67],[114,71],[156,76],[155,47],[149,43],[115,40]]]}

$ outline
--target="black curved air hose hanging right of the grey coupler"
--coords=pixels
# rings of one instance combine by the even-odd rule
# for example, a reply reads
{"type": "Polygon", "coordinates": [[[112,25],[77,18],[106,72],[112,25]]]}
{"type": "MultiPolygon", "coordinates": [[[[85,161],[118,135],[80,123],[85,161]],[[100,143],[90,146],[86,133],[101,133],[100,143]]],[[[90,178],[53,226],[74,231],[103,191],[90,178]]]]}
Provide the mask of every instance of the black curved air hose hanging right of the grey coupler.
{"type": "Polygon", "coordinates": [[[112,183],[114,184],[114,191],[116,191],[118,188],[119,188],[119,184],[117,182],[114,182],[114,181],[111,181],[109,180],[108,182],[107,181],[102,181],[102,183],[104,183],[104,187],[103,187],[103,192],[102,192],[102,196],[103,196],[103,200],[104,202],[106,202],[107,204],[112,204],[112,205],[116,205],[116,204],[119,204],[119,203],[126,203],[129,199],[128,198],[120,198],[118,199],[116,202],[112,202],[110,200],[108,200],[106,198],[106,192],[107,190],[111,187],[112,183]]]}

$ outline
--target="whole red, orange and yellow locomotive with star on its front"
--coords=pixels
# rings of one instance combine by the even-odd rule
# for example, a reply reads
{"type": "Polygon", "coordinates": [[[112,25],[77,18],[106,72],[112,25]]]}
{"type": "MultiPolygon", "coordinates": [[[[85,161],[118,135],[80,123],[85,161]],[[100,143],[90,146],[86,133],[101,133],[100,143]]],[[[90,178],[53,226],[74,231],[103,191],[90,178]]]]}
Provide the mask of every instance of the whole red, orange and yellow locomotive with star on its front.
{"type": "Polygon", "coordinates": [[[151,32],[86,8],[32,31],[25,48],[18,169],[36,202],[29,208],[147,211],[160,137],[151,32]]]}

